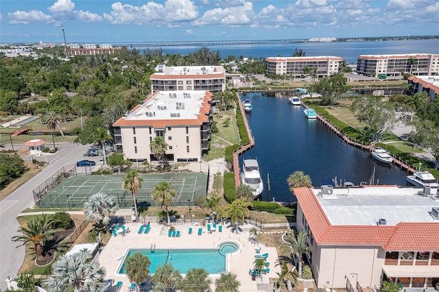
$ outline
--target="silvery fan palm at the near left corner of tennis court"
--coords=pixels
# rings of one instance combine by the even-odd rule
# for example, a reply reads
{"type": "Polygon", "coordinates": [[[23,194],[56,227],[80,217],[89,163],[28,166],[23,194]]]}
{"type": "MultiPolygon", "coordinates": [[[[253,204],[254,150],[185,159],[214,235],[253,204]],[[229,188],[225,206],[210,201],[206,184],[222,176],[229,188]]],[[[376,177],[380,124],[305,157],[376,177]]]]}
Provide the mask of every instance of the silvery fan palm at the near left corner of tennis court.
{"type": "Polygon", "coordinates": [[[119,205],[115,202],[115,197],[107,196],[105,193],[95,193],[84,203],[85,222],[96,222],[104,225],[108,230],[110,216],[115,215],[119,210],[119,205]]]}

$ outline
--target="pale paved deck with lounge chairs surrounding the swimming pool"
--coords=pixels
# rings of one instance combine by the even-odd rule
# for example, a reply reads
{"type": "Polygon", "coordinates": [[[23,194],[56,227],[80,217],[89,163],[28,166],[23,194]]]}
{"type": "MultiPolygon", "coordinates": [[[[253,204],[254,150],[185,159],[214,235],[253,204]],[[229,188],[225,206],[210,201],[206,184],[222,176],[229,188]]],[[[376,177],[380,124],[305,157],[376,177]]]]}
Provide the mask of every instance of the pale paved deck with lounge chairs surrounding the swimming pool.
{"type": "MultiPolygon", "coordinates": [[[[239,226],[242,231],[236,233],[232,231],[233,228],[229,222],[224,222],[222,232],[215,230],[209,233],[206,226],[196,225],[196,223],[174,223],[175,229],[180,230],[180,237],[169,237],[169,228],[163,224],[150,223],[151,229],[148,234],[138,234],[141,225],[139,222],[126,223],[125,226],[130,228],[130,232],[125,236],[112,236],[99,255],[99,264],[106,268],[106,279],[112,279],[114,283],[123,282],[120,291],[128,291],[131,284],[126,276],[117,274],[117,269],[126,251],[132,247],[150,249],[155,245],[156,248],[202,248],[217,247],[222,241],[235,241],[241,245],[241,250],[230,254],[229,271],[235,273],[237,279],[241,282],[239,291],[258,291],[257,284],[268,284],[269,278],[277,278],[277,273],[281,272],[281,267],[276,265],[278,263],[276,247],[265,247],[260,243],[252,243],[248,230],[254,226],[239,226]],[[192,228],[192,234],[189,234],[189,228],[192,228]],[[202,228],[202,235],[198,235],[198,228],[202,228]],[[254,255],[256,254],[255,247],[261,247],[259,254],[268,253],[267,261],[270,263],[270,272],[253,281],[248,270],[253,268],[254,255]]],[[[211,278],[213,279],[212,289],[214,291],[215,279],[218,276],[211,276],[211,278]]]]}

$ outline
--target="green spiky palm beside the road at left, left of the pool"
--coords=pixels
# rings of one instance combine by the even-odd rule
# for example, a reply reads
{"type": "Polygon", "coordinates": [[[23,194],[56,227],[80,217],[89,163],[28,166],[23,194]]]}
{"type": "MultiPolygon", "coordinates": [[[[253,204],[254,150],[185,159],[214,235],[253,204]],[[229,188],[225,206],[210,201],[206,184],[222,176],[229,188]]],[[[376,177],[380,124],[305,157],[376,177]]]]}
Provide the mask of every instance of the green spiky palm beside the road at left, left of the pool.
{"type": "Polygon", "coordinates": [[[43,215],[27,223],[27,228],[20,227],[18,232],[23,235],[16,235],[12,237],[12,241],[22,241],[23,245],[32,243],[37,259],[43,258],[43,246],[45,242],[50,239],[51,235],[57,232],[57,229],[51,228],[54,223],[53,217],[43,215]]]}

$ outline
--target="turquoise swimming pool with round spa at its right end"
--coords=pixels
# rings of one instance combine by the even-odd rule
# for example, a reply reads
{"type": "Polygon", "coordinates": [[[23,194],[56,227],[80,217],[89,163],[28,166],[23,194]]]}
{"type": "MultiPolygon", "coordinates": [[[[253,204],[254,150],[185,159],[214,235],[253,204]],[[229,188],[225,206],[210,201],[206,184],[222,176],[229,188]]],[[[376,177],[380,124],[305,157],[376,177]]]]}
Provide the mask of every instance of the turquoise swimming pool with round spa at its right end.
{"type": "Polygon", "coordinates": [[[187,273],[189,269],[205,269],[208,273],[222,273],[226,271],[226,254],[233,254],[240,249],[235,241],[223,241],[217,247],[206,247],[203,249],[176,248],[176,249],[140,249],[130,248],[127,250],[117,273],[126,273],[125,261],[135,253],[141,253],[150,258],[150,273],[155,273],[156,268],[164,263],[172,264],[174,269],[180,273],[187,273]]]}

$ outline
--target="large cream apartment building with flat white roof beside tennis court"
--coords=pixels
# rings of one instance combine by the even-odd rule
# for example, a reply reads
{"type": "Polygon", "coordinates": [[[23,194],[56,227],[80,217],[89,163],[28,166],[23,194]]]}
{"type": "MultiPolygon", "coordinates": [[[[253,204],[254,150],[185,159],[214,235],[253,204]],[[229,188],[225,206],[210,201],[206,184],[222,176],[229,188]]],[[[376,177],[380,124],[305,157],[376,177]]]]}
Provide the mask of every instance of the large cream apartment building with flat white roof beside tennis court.
{"type": "Polygon", "coordinates": [[[148,96],[127,117],[113,124],[115,145],[130,160],[156,160],[150,143],[156,136],[168,145],[171,162],[201,161],[209,148],[212,93],[201,90],[160,91],[148,96]]]}

